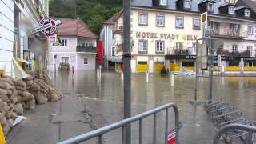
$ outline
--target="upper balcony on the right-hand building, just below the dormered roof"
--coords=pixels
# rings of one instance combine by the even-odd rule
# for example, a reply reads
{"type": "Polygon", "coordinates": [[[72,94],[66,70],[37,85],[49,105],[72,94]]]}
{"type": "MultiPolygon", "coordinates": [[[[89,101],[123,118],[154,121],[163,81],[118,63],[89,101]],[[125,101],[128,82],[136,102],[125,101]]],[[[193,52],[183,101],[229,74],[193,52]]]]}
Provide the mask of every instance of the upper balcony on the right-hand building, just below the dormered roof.
{"type": "Polygon", "coordinates": [[[223,30],[222,32],[219,32],[218,30],[206,29],[206,35],[212,36],[215,38],[234,38],[234,39],[248,38],[247,32],[241,32],[239,30],[223,30]]]}

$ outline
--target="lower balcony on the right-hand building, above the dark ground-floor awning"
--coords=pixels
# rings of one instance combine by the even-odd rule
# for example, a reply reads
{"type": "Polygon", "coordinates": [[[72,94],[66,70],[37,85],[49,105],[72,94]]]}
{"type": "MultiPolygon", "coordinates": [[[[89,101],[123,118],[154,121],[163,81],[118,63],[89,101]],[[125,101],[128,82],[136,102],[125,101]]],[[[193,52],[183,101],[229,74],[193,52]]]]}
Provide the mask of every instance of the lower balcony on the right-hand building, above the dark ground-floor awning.
{"type": "Polygon", "coordinates": [[[217,55],[228,57],[252,57],[251,50],[231,51],[231,50],[217,50],[217,55]]]}

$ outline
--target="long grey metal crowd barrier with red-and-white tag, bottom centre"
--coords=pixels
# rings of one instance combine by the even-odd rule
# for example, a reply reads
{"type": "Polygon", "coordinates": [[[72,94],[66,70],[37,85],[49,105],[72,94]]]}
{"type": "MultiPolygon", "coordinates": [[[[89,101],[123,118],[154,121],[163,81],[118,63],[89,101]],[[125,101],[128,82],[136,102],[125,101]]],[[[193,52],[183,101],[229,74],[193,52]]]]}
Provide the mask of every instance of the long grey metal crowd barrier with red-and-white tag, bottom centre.
{"type": "Polygon", "coordinates": [[[166,110],[166,129],[165,129],[165,144],[167,144],[167,137],[168,137],[168,127],[169,127],[169,109],[174,108],[175,113],[175,130],[176,130],[176,143],[178,143],[178,130],[179,130],[179,115],[178,115],[178,106],[176,106],[174,103],[169,103],[163,106],[159,106],[157,108],[154,108],[153,110],[148,110],[142,114],[138,114],[131,118],[126,118],[122,121],[115,122],[113,124],[110,124],[109,126],[104,126],[100,129],[90,131],[86,134],[78,135],[74,138],[67,139],[63,142],[58,142],[58,144],[74,144],[79,142],[85,142],[87,140],[90,140],[91,138],[98,137],[98,143],[103,143],[103,134],[106,134],[112,130],[116,130],[120,127],[122,127],[122,144],[126,144],[125,142],[125,127],[127,124],[139,121],[139,144],[142,144],[142,119],[146,118],[150,115],[154,115],[154,128],[153,128],[153,144],[156,144],[156,123],[157,123],[157,116],[156,114],[162,110],[166,110]]]}

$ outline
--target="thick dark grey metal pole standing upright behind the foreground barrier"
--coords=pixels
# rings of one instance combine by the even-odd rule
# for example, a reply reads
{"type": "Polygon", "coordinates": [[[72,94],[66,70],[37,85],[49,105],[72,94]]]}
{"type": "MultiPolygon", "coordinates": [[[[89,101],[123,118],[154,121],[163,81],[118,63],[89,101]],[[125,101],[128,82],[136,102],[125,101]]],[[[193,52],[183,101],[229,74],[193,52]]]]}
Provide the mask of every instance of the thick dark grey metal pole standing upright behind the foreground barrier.
{"type": "MultiPolygon", "coordinates": [[[[124,118],[131,116],[131,83],[130,83],[130,0],[123,0],[123,62],[124,62],[124,118]]],[[[131,144],[130,123],[125,126],[125,142],[131,144]]]]}

